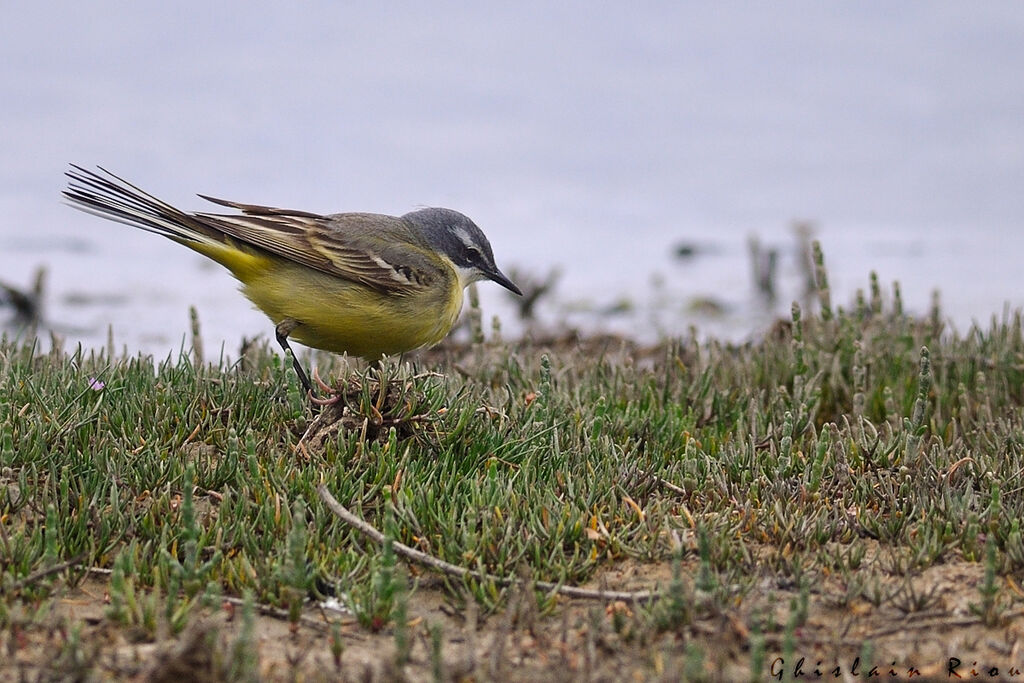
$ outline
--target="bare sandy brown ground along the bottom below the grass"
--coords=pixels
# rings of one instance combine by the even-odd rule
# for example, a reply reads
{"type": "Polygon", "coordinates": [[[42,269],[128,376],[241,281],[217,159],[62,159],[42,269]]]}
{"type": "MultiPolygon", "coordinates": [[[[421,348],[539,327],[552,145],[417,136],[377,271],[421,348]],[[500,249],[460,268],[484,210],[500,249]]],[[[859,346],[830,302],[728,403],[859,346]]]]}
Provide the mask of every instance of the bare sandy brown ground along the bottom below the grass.
{"type": "MultiPolygon", "coordinates": [[[[684,575],[696,575],[695,563],[684,575]]],[[[870,569],[865,569],[870,570],[870,569]]],[[[528,591],[512,590],[507,607],[483,615],[454,606],[441,581],[421,575],[409,604],[412,646],[395,661],[392,631],[371,633],[350,616],[310,604],[298,626],[261,614],[255,624],[259,678],[285,680],[410,681],[646,681],[679,680],[684,673],[708,680],[750,680],[760,663],[763,680],[788,677],[856,680],[872,668],[886,680],[946,679],[955,666],[964,678],[1013,679],[1024,671],[1024,612],[1012,596],[1016,583],[1000,581],[1001,617],[985,626],[971,609],[979,599],[983,567],[949,562],[911,579],[880,583],[888,599],[874,605],[844,603],[846,587],[825,579],[808,596],[807,618],[786,632],[799,595],[766,578],[739,604],[709,606],[692,593],[693,617],[656,631],[635,605],[564,600],[540,613],[528,591]],[[756,618],[757,616],[757,618],[756,618]],[[342,650],[332,648],[339,624],[342,650]],[[767,622],[765,621],[767,618],[767,622]],[[771,624],[763,635],[752,624],[771,624]],[[440,656],[431,629],[441,629],[440,656]],[[759,654],[763,652],[763,654],[759,654]],[[816,675],[816,672],[818,675],[816,675]],[[801,676],[802,675],[802,676],[801,676]]],[[[666,586],[668,564],[624,562],[593,588],[640,590],[666,586]]],[[[0,632],[0,676],[5,680],[226,680],[241,608],[224,603],[194,617],[176,637],[140,640],[133,629],[105,616],[106,578],[89,575],[43,613],[12,615],[0,632]],[[73,646],[77,640],[77,646],[73,646]]],[[[1021,596],[1017,596],[1020,598],[1021,596]]],[[[255,673],[255,672],[254,672],[255,673]]]]}

